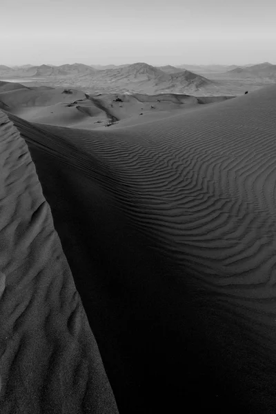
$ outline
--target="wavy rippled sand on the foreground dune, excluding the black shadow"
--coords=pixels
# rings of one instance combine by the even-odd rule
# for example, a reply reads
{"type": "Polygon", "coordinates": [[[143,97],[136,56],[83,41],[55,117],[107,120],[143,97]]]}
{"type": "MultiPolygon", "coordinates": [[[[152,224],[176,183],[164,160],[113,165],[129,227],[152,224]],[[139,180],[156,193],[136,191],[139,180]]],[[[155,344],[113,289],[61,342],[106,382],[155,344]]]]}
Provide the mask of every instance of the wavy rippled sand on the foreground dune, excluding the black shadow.
{"type": "Polygon", "coordinates": [[[197,324],[225,358],[233,353],[234,371],[244,367],[244,384],[254,382],[248,401],[257,407],[262,394],[262,404],[271,403],[256,412],[273,413],[276,87],[114,130],[11,119],[28,144],[112,195],[145,248],[170,264],[168,284],[198,293],[197,324]],[[207,311],[221,322],[204,319],[207,311]]]}

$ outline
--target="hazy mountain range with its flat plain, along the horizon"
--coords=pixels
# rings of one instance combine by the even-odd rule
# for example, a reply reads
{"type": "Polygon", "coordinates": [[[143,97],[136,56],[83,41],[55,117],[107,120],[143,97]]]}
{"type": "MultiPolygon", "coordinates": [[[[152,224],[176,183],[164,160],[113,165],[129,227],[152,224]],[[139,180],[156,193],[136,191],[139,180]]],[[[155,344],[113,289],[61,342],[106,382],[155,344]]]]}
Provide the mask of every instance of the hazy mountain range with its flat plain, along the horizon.
{"type": "Polygon", "coordinates": [[[25,65],[9,68],[1,65],[0,79],[16,79],[21,83],[22,79],[28,79],[28,82],[39,81],[50,86],[77,87],[89,92],[235,95],[243,93],[244,88],[248,89],[248,81],[252,83],[253,89],[264,82],[273,83],[276,79],[276,65],[269,62],[246,66],[152,66],[144,62],[119,66],[73,63],[61,66],[25,65]],[[236,81],[235,85],[235,79],[245,79],[246,84],[238,85],[236,81]]]}

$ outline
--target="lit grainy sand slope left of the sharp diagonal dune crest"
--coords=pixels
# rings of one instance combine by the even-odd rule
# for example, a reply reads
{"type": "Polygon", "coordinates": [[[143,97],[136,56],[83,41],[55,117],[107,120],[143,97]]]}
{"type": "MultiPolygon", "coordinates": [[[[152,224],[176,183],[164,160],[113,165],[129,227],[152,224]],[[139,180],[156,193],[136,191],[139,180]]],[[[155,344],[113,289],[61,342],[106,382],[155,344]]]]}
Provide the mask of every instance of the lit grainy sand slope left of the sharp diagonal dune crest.
{"type": "Polygon", "coordinates": [[[26,142],[0,111],[0,412],[117,413],[26,142]]]}

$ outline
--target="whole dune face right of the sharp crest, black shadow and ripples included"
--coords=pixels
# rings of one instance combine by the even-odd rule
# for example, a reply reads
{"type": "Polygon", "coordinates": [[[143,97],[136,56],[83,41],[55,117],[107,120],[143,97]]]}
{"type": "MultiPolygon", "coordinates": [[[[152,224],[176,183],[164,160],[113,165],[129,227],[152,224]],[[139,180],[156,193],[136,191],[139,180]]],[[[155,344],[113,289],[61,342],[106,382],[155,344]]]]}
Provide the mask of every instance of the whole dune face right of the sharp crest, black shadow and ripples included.
{"type": "Polygon", "coordinates": [[[275,410],[275,102],[104,132],[10,115],[121,413],[275,410]]]}

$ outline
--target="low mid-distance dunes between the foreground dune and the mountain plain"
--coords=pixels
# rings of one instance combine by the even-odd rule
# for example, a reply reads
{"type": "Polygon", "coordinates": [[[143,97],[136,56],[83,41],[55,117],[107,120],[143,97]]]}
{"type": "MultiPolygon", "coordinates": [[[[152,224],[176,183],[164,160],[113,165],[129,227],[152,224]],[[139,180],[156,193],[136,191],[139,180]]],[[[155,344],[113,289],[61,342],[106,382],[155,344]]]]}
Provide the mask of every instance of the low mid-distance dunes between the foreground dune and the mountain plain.
{"type": "Polygon", "coordinates": [[[128,120],[123,126],[137,124],[137,120],[141,123],[168,117],[175,111],[229,98],[233,97],[202,100],[175,94],[88,95],[75,89],[66,92],[64,88],[27,87],[20,83],[0,82],[2,109],[28,121],[73,128],[101,128],[108,119],[128,120]]]}

